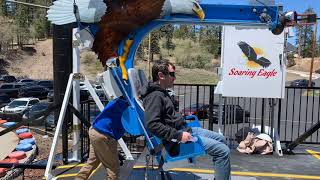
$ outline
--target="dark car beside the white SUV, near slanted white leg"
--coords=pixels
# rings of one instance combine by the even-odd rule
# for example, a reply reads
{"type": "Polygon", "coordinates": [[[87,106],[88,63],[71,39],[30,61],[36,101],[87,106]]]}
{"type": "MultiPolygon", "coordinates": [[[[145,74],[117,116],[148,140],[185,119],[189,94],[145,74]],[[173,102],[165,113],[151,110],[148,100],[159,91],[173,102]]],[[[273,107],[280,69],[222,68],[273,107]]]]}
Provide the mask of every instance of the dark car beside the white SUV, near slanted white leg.
{"type": "MultiPolygon", "coordinates": [[[[43,113],[51,105],[52,105],[52,103],[48,103],[48,102],[39,102],[39,103],[33,105],[29,111],[27,111],[26,113],[23,114],[22,120],[28,121],[29,119],[34,119],[36,116],[38,116],[39,113],[43,113]]],[[[46,122],[45,122],[44,118],[47,118],[47,117],[42,115],[42,116],[36,118],[35,121],[31,122],[30,125],[34,125],[34,126],[45,125],[46,122]]]]}

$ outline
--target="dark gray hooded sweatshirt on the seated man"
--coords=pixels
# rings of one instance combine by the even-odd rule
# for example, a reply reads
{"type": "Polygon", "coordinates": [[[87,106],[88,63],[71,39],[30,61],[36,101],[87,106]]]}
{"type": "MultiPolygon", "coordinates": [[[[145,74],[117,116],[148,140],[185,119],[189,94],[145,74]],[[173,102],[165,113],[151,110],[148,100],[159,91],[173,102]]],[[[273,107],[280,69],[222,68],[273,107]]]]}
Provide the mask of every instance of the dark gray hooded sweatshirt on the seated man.
{"type": "Polygon", "coordinates": [[[158,84],[149,82],[142,98],[147,128],[164,144],[178,145],[183,131],[192,132],[183,116],[175,111],[173,99],[158,84]]]}

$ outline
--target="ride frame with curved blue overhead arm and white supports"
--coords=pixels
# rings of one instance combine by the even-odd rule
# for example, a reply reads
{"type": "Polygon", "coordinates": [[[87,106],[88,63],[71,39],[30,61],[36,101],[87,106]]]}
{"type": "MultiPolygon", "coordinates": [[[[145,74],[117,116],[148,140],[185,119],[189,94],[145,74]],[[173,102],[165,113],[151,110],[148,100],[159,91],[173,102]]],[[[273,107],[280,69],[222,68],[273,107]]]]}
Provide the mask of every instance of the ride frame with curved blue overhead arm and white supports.
{"type": "MultiPolygon", "coordinates": [[[[173,15],[166,16],[162,19],[154,20],[144,27],[140,28],[138,31],[133,32],[128,36],[128,39],[132,39],[133,43],[129,49],[128,56],[126,61],[124,62],[124,66],[126,69],[132,68],[134,66],[134,56],[135,52],[143,40],[143,38],[153,29],[156,29],[162,25],[166,24],[211,24],[211,25],[239,25],[239,26],[251,26],[251,27],[265,27],[269,28],[273,32],[277,34],[277,31],[281,31],[284,28],[282,22],[280,22],[280,15],[282,13],[282,6],[266,6],[266,5],[216,5],[216,4],[201,4],[204,12],[206,13],[206,18],[203,21],[200,21],[194,17],[185,16],[185,15],[173,15]]],[[[103,109],[103,105],[99,100],[98,96],[94,92],[92,86],[89,81],[83,76],[80,71],[80,50],[77,46],[76,40],[76,32],[78,29],[73,30],[73,73],[69,75],[69,80],[67,84],[67,89],[65,92],[65,96],[63,99],[62,108],[60,110],[60,115],[53,139],[53,143],[51,146],[49,159],[47,163],[47,167],[45,170],[45,178],[46,179],[54,179],[55,177],[51,174],[53,160],[55,156],[56,145],[58,143],[58,137],[61,131],[61,127],[64,121],[64,115],[67,109],[67,102],[70,97],[72,83],[73,83],[73,104],[76,109],[79,109],[79,80],[84,79],[84,83],[99,109],[103,109]]],[[[127,39],[124,39],[119,45],[119,53],[123,54],[125,49],[125,42],[127,39]]],[[[125,73],[122,71],[122,73],[125,73]]],[[[125,87],[127,90],[130,87],[125,87]]],[[[74,161],[79,160],[79,151],[77,148],[77,143],[79,142],[79,120],[74,117],[73,118],[74,129],[73,135],[73,159],[74,161]]],[[[63,132],[66,133],[66,132],[63,132]]],[[[121,145],[121,142],[120,142],[121,145]]],[[[124,152],[126,153],[127,159],[132,159],[130,152],[128,152],[125,144],[121,145],[124,152]]]]}

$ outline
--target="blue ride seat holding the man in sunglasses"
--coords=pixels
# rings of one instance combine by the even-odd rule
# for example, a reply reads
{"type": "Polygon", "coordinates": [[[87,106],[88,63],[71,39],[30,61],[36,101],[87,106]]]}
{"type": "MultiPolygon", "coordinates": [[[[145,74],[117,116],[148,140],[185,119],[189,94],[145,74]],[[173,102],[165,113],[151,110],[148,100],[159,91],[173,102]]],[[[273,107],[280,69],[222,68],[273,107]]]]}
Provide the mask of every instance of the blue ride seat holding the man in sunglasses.
{"type": "MultiPolygon", "coordinates": [[[[128,75],[132,93],[131,102],[134,104],[137,116],[139,116],[137,120],[142,121],[140,124],[143,124],[143,129],[146,129],[144,121],[144,108],[140,97],[143,89],[147,86],[147,79],[142,70],[137,70],[134,68],[128,70],[128,75]]],[[[192,115],[186,117],[186,120],[192,119],[194,121],[188,123],[189,127],[201,127],[199,119],[196,116],[192,115]]],[[[160,138],[153,136],[147,130],[142,131],[141,133],[145,135],[148,150],[152,156],[156,157],[160,169],[162,169],[162,165],[166,162],[173,162],[183,159],[189,159],[189,161],[193,162],[192,159],[194,157],[205,154],[202,141],[199,137],[197,137],[196,142],[180,143],[179,154],[177,156],[170,156],[166,148],[163,147],[162,140],[160,138]]]]}

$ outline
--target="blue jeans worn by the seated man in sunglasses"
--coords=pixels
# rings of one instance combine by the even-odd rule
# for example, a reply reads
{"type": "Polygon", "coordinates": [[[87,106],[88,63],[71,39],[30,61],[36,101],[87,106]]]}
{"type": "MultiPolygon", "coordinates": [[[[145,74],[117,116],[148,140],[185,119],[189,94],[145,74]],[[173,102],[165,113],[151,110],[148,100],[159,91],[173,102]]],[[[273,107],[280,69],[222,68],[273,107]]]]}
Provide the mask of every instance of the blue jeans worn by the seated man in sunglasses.
{"type": "Polygon", "coordinates": [[[223,135],[200,127],[192,127],[192,134],[199,136],[207,154],[212,156],[216,180],[230,178],[230,149],[223,135]]]}

